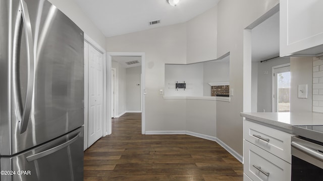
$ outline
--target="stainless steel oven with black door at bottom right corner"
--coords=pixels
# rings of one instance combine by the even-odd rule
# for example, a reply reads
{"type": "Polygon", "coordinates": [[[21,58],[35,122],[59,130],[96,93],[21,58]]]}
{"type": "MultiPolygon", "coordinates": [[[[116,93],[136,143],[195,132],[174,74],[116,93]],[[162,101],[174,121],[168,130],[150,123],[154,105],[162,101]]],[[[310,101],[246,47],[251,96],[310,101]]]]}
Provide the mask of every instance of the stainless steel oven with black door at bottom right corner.
{"type": "Polygon", "coordinates": [[[293,126],[292,181],[323,180],[323,126],[293,126]]]}

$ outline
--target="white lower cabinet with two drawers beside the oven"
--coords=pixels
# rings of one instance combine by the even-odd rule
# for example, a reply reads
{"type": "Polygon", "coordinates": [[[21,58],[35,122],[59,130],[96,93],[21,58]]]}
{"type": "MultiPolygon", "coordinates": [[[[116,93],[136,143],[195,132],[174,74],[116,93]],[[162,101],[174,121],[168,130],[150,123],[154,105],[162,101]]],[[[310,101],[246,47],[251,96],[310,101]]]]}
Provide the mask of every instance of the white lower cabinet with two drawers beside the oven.
{"type": "Polygon", "coordinates": [[[290,180],[291,136],[289,133],[244,120],[244,180],[290,180]]]}

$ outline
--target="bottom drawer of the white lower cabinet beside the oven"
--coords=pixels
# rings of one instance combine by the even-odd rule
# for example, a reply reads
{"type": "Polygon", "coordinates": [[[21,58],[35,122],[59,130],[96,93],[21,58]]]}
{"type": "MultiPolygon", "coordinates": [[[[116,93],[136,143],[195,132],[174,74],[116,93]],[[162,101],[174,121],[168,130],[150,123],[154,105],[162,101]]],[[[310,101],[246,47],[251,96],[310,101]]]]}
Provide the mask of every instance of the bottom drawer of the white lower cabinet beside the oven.
{"type": "Polygon", "coordinates": [[[291,164],[244,140],[243,171],[253,181],[291,180],[291,164]]]}

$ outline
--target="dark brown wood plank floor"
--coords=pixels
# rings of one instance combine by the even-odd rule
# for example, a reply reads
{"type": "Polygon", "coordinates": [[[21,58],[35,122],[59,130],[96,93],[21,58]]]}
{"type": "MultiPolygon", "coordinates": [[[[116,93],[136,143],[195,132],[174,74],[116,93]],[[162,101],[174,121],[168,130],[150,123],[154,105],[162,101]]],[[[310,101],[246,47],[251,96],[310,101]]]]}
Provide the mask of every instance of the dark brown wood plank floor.
{"type": "Polygon", "coordinates": [[[113,134],[84,152],[84,180],[243,180],[243,166],[213,141],[142,135],[141,114],[113,119],[113,134]]]}

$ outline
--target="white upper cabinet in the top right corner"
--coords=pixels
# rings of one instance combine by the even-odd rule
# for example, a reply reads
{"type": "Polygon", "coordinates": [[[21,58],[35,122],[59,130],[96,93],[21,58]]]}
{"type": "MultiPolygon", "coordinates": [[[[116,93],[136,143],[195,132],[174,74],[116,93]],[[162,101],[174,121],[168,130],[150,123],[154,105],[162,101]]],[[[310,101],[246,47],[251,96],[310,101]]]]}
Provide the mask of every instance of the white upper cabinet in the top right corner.
{"type": "Polygon", "coordinates": [[[323,53],[322,0],[280,0],[280,56],[323,53]]]}

